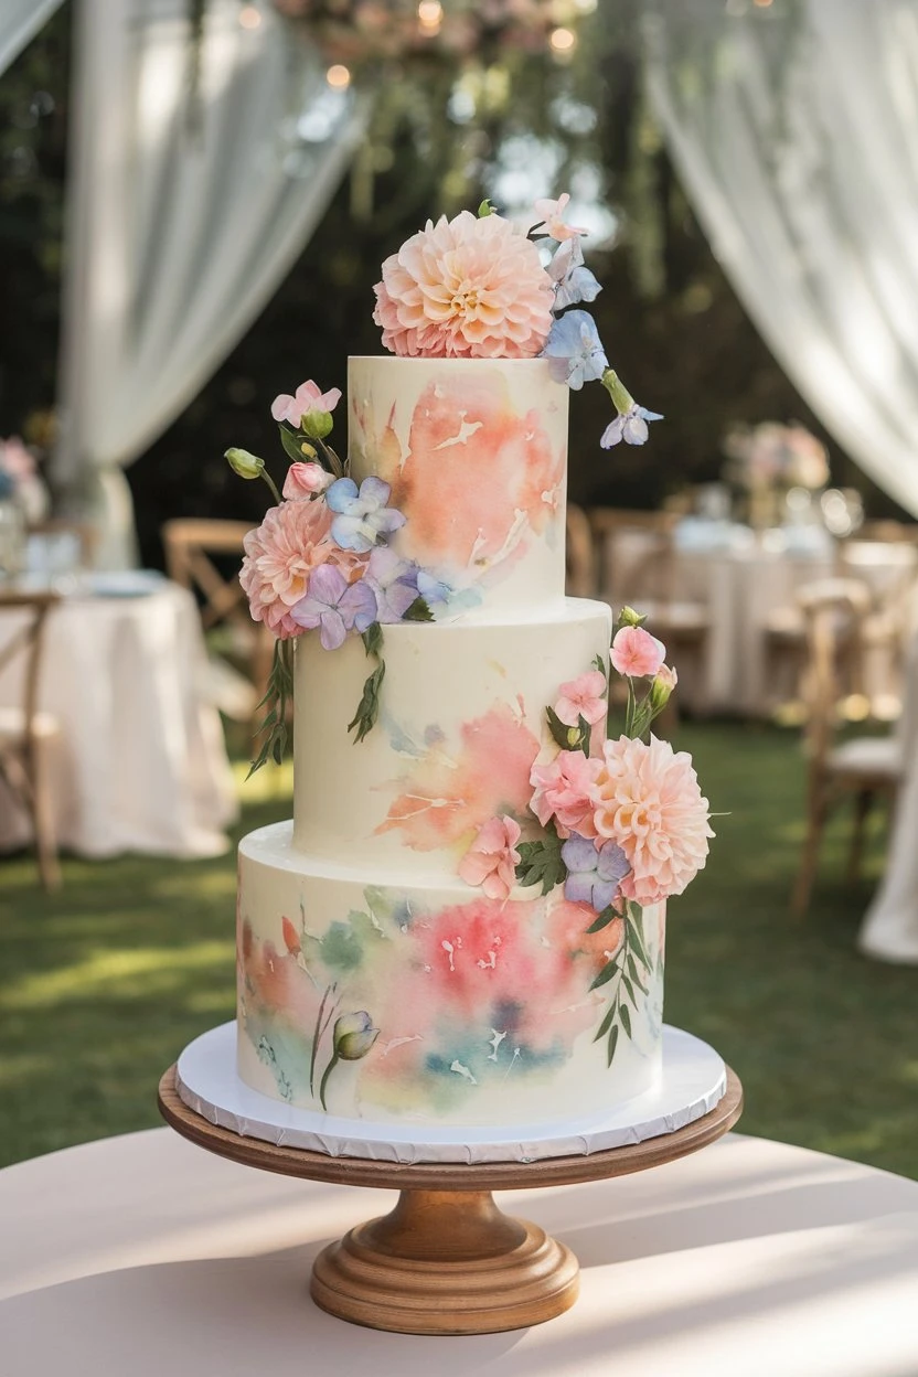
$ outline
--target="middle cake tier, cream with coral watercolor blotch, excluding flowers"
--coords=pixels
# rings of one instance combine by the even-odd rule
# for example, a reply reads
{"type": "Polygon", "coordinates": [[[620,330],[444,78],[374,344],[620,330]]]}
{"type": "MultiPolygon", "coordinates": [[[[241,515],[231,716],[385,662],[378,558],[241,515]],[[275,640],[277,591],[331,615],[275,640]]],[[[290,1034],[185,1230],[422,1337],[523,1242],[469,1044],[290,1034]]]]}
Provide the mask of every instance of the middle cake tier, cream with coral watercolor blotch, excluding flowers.
{"type": "Polygon", "coordinates": [[[540,621],[385,627],[378,720],[361,742],[350,723],[374,661],[358,638],[334,651],[300,638],[293,845],[380,870],[451,870],[489,818],[524,825],[546,708],[597,657],[607,665],[611,629],[608,606],[582,598],[540,621]]]}

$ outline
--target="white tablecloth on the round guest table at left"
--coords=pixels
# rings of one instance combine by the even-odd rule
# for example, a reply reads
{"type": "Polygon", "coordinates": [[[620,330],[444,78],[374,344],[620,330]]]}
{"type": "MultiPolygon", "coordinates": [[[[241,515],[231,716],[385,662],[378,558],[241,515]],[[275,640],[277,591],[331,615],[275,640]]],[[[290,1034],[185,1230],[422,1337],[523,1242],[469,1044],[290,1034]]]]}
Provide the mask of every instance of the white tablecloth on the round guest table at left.
{"type": "MultiPolygon", "coordinates": [[[[85,856],[122,851],[219,855],[237,812],[216,711],[204,701],[205,649],[194,599],[165,580],[138,596],[70,596],[51,613],[40,708],[50,744],[58,843],[85,856]]],[[[0,644],[22,613],[0,610],[0,644]]],[[[0,706],[19,706],[21,661],[0,673],[0,706]]],[[[0,793],[0,848],[29,825],[0,793]]]]}

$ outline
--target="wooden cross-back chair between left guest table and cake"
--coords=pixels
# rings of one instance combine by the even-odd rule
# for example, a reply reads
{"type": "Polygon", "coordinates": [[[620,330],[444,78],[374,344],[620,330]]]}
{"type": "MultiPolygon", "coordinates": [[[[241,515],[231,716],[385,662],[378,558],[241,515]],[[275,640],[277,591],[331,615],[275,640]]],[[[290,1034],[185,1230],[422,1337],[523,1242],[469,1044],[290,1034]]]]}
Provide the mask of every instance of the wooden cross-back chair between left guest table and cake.
{"type": "Polygon", "coordinates": [[[209,698],[224,716],[252,722],[255,730],[256,709],[271,672],[274,638],[260,622],[252,621],[238,580],[242,540],[249,530],[252,526],[242,521],[182,516],[165,523],[162,541],[169,578],[198,599],[211,649],[209,698]],[[227,565],[233,567],[228,576],[227,565]],[[216,644],[220,639],[216,632],[226,633],[223,644],[216,644]]]}

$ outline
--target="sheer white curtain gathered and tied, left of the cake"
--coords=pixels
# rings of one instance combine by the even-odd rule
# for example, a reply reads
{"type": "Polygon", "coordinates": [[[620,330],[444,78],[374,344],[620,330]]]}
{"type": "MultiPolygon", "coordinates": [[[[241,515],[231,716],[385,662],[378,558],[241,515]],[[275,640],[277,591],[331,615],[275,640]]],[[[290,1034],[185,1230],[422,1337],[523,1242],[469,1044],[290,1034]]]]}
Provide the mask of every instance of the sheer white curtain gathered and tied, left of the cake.
{"type": "Polygon", "coordinates": [[[122,465],[249,328],[362,132],[267,3],[77,0],[55,476],[132,555],[122,465]],[[87,483],[88,481],[88,483],[87,483]]]}

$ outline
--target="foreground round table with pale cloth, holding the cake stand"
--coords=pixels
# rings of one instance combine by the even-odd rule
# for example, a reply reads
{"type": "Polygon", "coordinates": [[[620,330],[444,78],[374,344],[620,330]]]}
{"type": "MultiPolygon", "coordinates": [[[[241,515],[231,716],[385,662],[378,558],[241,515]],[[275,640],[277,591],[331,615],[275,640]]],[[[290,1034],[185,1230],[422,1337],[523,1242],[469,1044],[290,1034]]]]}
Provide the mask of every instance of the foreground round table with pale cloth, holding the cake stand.
{"type": "Polygon", "coordinates": [[[462,1338],[358,1329],[310,1301],[321,1246],[392,1203],[169,1129],[7,1168],[3,1374],[918,1371],[918,1183],[885,1172],[731,1133],[640,1176],[506,1192],[578,1254],[581,1299],[548,1325],[462,1338]]]}

